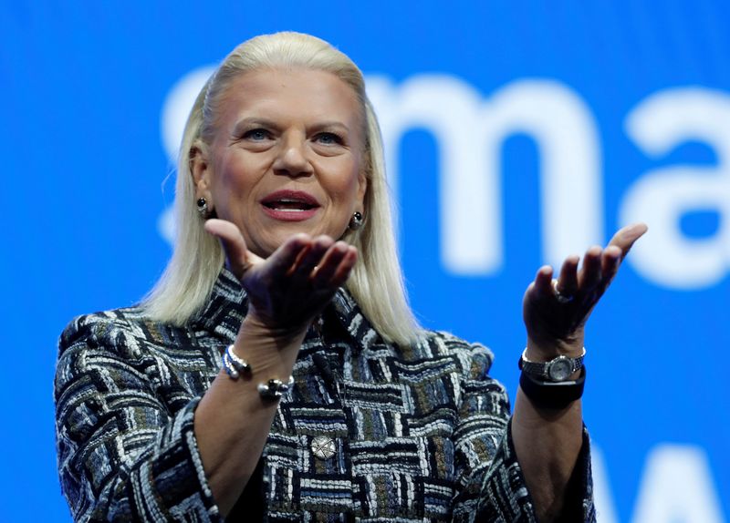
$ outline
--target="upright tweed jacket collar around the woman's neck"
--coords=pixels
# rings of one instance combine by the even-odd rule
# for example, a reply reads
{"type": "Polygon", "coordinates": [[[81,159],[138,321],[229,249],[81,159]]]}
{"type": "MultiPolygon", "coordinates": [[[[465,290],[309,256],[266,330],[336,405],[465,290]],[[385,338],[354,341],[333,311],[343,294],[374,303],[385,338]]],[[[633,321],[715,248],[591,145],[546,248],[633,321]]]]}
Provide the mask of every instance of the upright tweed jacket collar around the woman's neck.
{"type": "MultiPolygon", "coordinates": [[[[328,309],[334,314],[326,315],[335,318],[360,349],[367,350],[373,343],[382,343],[380,334],[344,287],[335,292],[328,309]]],[[[208,301],[200,312],[193,315],[191,323],[194,328],[203,328],[216,337],[222,337],[225,343],[233,343],[247,311],[248,299],[243,286],[234,273],[224,267],[215,280],[208,301]]]]}

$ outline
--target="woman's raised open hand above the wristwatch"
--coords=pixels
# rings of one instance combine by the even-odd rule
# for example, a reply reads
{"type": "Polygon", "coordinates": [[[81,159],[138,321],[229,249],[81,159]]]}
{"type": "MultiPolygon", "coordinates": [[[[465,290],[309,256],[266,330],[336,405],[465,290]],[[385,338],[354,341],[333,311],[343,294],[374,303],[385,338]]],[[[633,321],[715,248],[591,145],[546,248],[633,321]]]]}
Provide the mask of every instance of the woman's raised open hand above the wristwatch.
{"type": "Polygon", "coordinates": [[[530,359],[549,360],[558,354],[576,356],[582,352],[585,325],[593,307],[608,289],[633,243],[646,231],[643,223],[624,227],[605,249],[591,247],[580,270],[579,257],[568,256],[557,280],[548,265],[537,271],[523,300],[530,359]]]}

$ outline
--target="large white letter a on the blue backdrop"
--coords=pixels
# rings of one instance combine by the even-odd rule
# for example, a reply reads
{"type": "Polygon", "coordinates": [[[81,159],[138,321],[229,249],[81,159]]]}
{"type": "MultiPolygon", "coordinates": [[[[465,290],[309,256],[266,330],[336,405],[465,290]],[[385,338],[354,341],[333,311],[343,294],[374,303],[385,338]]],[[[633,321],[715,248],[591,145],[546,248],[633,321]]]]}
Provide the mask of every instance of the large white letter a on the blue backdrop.
{"type": "Polygon", "coordinates": [[[690,140],[714,149],[716,167],[655,169],[633,184],[620,209],[622,223],[649,224],[628,258],[641,275],[675,289],[714,285],[725,277],[730,249],[730,96],[699,87],[661,91],[631,111],[626,132],[650,157],[690,140]],[[684,236],[683,213],[707,209],[720,213],[720,230],[707,239],[684,236]]]}

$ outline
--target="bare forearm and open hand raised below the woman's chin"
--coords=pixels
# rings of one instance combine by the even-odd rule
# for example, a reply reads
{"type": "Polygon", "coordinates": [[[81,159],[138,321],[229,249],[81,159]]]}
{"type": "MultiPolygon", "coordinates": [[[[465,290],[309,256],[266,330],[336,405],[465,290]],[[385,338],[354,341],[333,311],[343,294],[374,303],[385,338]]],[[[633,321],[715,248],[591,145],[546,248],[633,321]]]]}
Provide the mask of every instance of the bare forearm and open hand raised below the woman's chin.
{"type": "Polygon", "coordinates": [[[222,514],[227,515],[255,474],[278,402],[258,385],[294,374],[307,329],[347,281],[358,258],[354,247],[326,236],[295,234],[266,259],[246,247],[241,231],[226,220],[205,221],[218,238],[226,264],[248,294],[248,312],[234,352],[250,364],[243,379],[224,369],[195,410],[195,437],[205,476],[222,514]]]}

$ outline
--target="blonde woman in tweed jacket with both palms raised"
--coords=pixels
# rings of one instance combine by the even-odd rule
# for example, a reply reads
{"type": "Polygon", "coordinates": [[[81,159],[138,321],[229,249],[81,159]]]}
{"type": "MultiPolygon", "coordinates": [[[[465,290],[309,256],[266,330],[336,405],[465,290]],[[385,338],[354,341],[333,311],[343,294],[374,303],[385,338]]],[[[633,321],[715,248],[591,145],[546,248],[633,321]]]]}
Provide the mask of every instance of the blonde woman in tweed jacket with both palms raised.
{"type": "Polygon", "coordinates": [[[583,326],[643,226],[558,281],[537,272],[510,421],[492,354],[413,320],[347,56],[293,33],[238,46],[194,104],[178,173],[161,282],[60,340],[78,521],[594,518],[583,326]]]}

